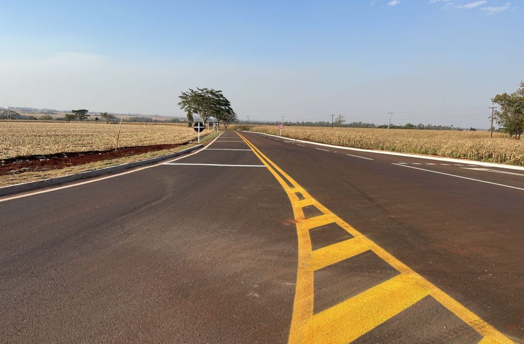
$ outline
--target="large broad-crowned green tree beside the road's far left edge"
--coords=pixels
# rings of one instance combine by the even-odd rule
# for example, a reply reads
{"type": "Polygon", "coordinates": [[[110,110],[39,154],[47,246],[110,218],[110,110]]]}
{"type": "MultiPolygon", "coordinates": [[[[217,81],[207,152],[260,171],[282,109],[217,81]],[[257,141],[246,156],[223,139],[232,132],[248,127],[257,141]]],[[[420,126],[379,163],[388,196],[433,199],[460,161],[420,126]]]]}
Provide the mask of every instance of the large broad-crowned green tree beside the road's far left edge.
{"type": "Polygon", "coordinates": [[[193,120],[193,115],[198,115],[205,124],[210,117],[219,118],[234,113],[222,91],[213,88],[197,87],[196,91],[190,88],[188,92],[182,92],[179,98],[178,106],[188,114],[188,122],[193,120]]]}

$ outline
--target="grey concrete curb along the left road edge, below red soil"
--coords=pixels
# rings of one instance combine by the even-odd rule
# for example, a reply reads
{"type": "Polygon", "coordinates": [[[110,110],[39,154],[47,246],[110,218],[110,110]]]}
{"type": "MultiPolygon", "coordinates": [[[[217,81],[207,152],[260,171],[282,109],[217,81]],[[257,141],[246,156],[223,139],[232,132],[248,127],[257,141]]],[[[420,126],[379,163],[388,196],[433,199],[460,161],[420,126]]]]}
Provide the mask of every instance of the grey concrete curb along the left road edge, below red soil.
{"type": "Polygon", "coordinates": [[[61,177],[56,177],[56,178],[51,178],[51,179],[43,179],[43,180],[38,180],[38,181],[34,181],[34,182],[27,182],[27,183],[21,183],[21,184],[4,186],[4,187],[0,187],[0,197],[1,196],[6,196],[6,195],[12,195],[12,194],[16,194],[16,193],[20,193],[20,192],[24,192],[24,191],[29,191],[29,190],[35,190],[36,188],[41,188],[41,187],[46,187],[46,186],[53,186],[53,185],[58,185],[58,184],[62,184],[62,183],[72,182],[72,181],[79,180],[79,179],[97,177],[97,176],[101,176],[103,174],[112,173],[112,172],[116,172],[116,171],[122,171],[122,170],[130,169],[130,168],[138,167],[138,166],[141,166],[141,165],[147,165],[147,164],[154,163],[154,162],[157,162],[157,161],[171,159],[171,158],[180,156],[182,154],[189,153],[191,151],[200,149],[202,147],[204,147],[204,145],[197,145],[197,146],[194,146],[194,147],[190,147],[190,148],[181,150],[179,152],[166,154],[165,156],[160,156],[160,157],[156,157],[156,158],[140,160],[140,161],[135,161],[135,162],[128,162],[128,163],[121,164],[121,165],[105,167],[105,168],[99,169],[99,170],[85,171],[85,172],[64,175],[64,176],[61,176],[61,177]]]}

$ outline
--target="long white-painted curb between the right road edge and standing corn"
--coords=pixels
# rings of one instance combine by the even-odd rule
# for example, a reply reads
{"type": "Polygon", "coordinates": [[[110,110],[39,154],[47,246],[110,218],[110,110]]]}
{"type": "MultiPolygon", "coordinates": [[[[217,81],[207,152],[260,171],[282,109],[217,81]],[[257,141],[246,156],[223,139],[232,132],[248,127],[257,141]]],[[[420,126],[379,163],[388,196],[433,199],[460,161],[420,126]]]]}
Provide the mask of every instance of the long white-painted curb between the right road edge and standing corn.
{"type": "Polygon", "coordinates": [[[507,164],[501,164],[501,163],[495,163],[495,162],[483,162],[483,161],[477,161],[477,160],[457,159],[457,158],[432,157],[432,156],[424,156],[422,154],[418,155],[418,154],[409,154],[409,153],[390,152],[390,151],[387,151],[387,150],[373,150],[373,149],[342,147],[342,146],[328,145],[326,143],[320,143],[320,142],[312,142],[312,141],[291,139],[291,138],[285,137],[285,136],[266,134],[265,132],[250,131],[250,130],[242,130],[242,131],[252,132],[253,134],[261,134],[261,135],[278,137],[279,139],[285,139],[286,141],[295,141],[295,142],[309,143],[310,145],[323,146],[323,147],[329,147],[329,148],[335,148],[335,149],[346,149],[346,150],[352,150],[352,151],[357,151],[357,152],[387,154],[387,155],[390,155],[390,156],[400,156],[400,157],[408,157],[408,158],[438,160],[438,161],[445,161],[445,162],[454,162],[454,163],[459,163],[459,164],[460,163],[468,163],[468,164],[471,164],[471,165],[479,165],[479,166],[484,166],[484,167],[496,167],[496,168],[499,168],[499,169],[509,169],[509,170],[524,171],[524,167],[522,167],[522,166],[507,165],[507,164]]]}

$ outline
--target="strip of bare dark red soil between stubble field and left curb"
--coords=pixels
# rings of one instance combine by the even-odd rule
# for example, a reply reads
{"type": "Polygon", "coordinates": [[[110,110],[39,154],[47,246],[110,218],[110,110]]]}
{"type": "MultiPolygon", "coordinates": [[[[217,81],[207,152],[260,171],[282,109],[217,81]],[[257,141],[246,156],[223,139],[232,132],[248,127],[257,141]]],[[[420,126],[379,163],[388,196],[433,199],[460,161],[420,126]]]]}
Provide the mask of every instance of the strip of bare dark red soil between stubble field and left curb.
{"type": "Polygon", "coordinates": [[[143,147],[128,147],[106,151],[58,153],[49,155],[26,156],[0,160],[0,175],[18,174],[24,172],[38,172],[62,169],[71,166],[83,165],[90,162],[135,156],[152,151],[171,149],[178,145],[152,145],[143,147]]]}

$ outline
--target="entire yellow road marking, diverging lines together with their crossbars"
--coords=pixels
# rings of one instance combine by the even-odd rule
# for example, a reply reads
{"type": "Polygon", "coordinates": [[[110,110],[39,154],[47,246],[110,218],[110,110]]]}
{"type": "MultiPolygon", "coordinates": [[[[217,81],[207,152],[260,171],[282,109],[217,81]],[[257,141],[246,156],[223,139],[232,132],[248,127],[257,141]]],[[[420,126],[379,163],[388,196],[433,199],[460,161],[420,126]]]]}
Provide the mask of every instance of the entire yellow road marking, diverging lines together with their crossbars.
{"type": "Polygon", "coordinates": [[[241,134],[238,135],[275,176],[286,191],[293,208],[298,235],[298,270],[288,340],[290,344],[349,343],[426,296],[432,296],[477,331],[483,337],[479,343],[514,344],[471,310],[333,214],[331,210],[311,197],[302,186],[266,157],[253,143],[241,134]],[[306,218],[302,208],[311,205],[318,208],[322,215],[306,218]],[[345,229],[353,238],[312,250],[310,229],[332,223],[345,229]],[[331,308],[313,314],[314,271],[365,251],[373,251],[395,268],[399,274],[331,308]]]}

